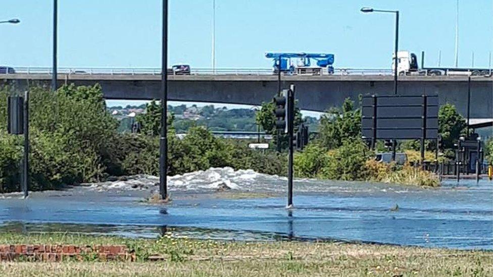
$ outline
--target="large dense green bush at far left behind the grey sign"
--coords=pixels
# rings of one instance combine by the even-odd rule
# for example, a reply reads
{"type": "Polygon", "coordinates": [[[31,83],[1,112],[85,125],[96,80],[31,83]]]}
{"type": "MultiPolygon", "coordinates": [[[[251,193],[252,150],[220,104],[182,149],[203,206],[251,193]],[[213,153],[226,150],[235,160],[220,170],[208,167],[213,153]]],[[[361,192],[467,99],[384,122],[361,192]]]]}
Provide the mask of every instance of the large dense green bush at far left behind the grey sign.
{"type": "MultiPolygon", "coordinates": [[[[7,122],[6,100],[11,94],[9,87],[0,90],[2,122],[7,122]]],[[[106,112],[101,87],[66,85],[56,92],[36,87],[29,95],[30,189],[52,189],[104,177],[103,156],[118,123],[106,112]]],[[[6,125],[0,125],[0,132],[6,132],[6,125]]],[[[12,136],[6,134],[5,137],[3,146],[12,136]]],[[[19,171],[12,167],[18,163],[20,155],[13,155],[13,149],[16,149],[13,145],[0,149],[0,168],[11,168],[11,177],[3,174],[2,191],[18,187],[19,171]]]]}

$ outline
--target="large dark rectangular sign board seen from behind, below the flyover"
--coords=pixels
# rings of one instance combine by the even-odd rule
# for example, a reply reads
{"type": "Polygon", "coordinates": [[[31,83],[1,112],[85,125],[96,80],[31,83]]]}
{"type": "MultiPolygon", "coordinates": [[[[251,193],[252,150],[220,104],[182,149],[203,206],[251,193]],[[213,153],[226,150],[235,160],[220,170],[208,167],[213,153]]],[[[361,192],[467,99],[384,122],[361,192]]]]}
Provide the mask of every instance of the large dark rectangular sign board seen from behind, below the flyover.
{"type": "Polygon", "coordinates": [[[372,140],[436,139],[438,96],[363,96],[362,135],[372,140]]]}

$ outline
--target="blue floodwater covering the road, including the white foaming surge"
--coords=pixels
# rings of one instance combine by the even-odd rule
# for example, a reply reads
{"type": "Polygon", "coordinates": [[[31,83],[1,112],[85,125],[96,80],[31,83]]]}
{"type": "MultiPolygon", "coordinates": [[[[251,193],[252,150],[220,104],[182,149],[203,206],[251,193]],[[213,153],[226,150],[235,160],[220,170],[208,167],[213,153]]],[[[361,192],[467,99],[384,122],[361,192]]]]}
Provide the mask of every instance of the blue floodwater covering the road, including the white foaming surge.
{"type": "MultiPolygon", "coordinates": [[[[235,240],[342,240],[457,249],[493,247],[493,187],[489,180],[444,182],[440,188],[295,180],[286,210],[285,178],[213,169],[170,178],[171,204],[141,200],[156,178],[93,184],[0,199],[0,231],[83,232],[235,240]],[[228,194],[217,197],[219,185],[228,194]],[[256,193],[259,193],[258,195],[256,193]],[[268,196],[268,197],[266,197],[268,196]],[[253,197],[253,198],[252,198],[253,197]]],[[[219,194],[221,195],[221,194],[219,194]]]]}

